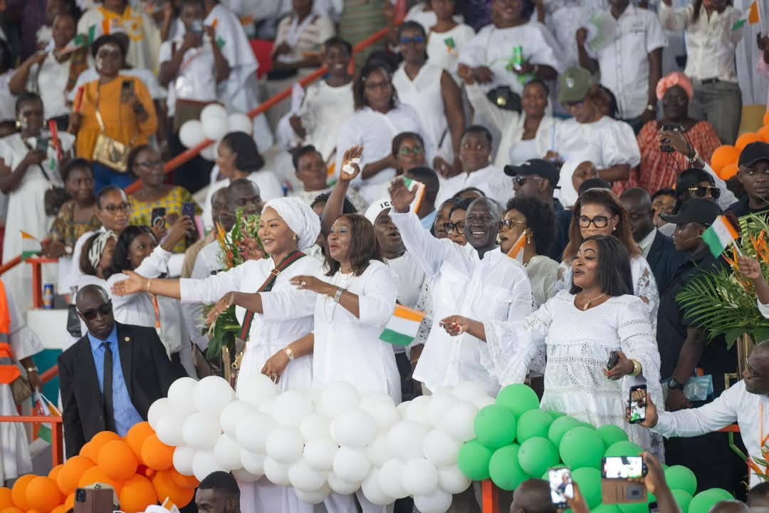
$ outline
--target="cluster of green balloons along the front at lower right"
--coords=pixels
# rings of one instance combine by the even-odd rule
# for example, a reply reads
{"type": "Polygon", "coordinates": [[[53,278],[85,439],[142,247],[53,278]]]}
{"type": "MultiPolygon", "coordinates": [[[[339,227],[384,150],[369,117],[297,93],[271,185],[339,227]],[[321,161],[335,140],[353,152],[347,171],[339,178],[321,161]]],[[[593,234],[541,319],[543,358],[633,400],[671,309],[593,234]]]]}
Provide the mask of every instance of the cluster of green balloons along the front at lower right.
{"type": "MultiPolygon", "coordinates": [[[[526,385],[508,385],[493,405],[478,411],[474,436],[462,445],[458,465],[465,476],[481,481],[491,478],[504,490],[514,490],[529,478],[548,478],[548,468],[568,466],[591,511],[600,513],[647,513],[647,502],[601,504],[601,458],[638,456],[641,448],[622,428],[594,428],[558,411],[539,409],[539,400],[526,385]]],[[[717,501],[734,497],[721,488],[697,495],[697,478],[688,468],[665,469],[667,485],[684,513],[707,513],[717,501]]]]}

